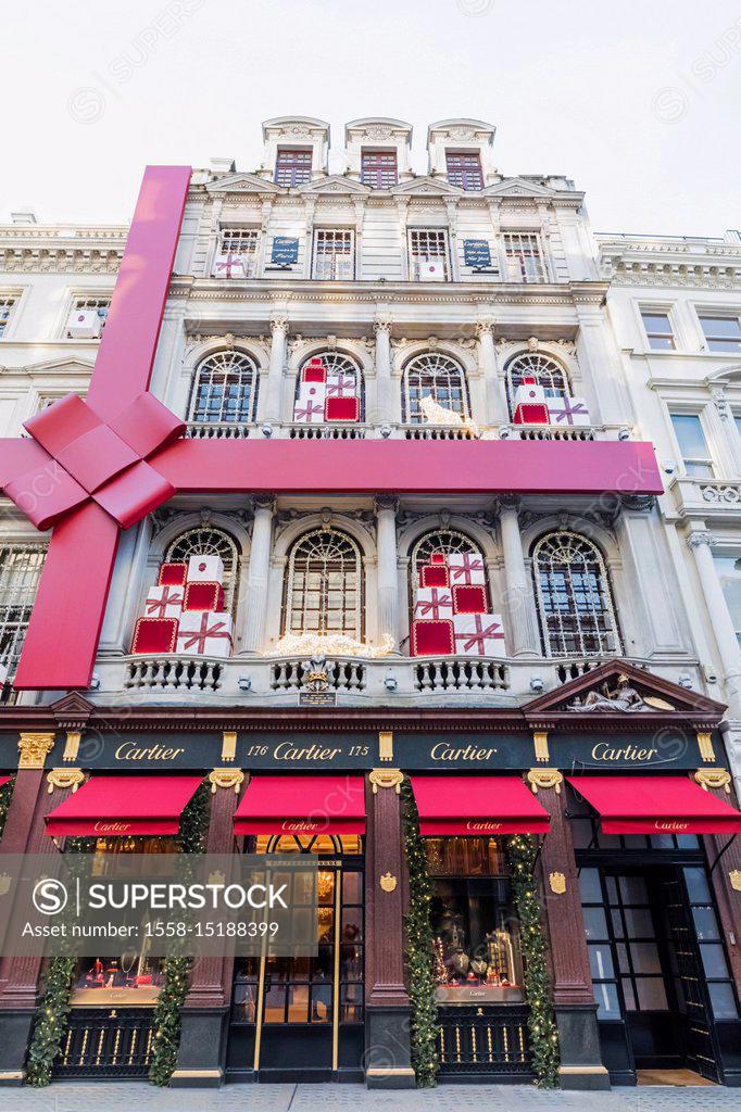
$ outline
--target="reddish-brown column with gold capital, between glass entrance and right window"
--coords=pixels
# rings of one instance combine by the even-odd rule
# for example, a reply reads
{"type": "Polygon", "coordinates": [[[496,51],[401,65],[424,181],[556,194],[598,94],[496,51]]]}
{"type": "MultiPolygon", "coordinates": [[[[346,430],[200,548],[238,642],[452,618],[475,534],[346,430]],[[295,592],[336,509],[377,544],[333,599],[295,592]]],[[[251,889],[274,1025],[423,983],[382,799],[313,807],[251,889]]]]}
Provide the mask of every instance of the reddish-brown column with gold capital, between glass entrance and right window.
{"type": "Polygon", "coordinates": [[[413,1089],[409,997],[404,984],[407,902],[397,768],[374,768],[366,785],[365,1059],[368,1089],[413,1089]]]}

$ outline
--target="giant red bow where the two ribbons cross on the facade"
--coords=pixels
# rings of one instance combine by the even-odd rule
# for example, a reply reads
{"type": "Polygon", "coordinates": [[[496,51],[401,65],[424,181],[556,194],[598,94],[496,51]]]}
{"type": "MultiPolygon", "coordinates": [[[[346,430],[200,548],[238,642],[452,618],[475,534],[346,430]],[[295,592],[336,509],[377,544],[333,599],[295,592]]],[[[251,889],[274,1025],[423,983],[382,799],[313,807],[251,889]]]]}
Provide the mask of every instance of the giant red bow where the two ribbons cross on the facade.
{"type": "Polygon", "coordinates": [[[185,423],[149,393],[108,421],[68,394],[24,428],[38,458],[6,484],[6,494],[39,529],[90,498],[128,529],[175,494],[147,457],[177,439],[185,423]]]}

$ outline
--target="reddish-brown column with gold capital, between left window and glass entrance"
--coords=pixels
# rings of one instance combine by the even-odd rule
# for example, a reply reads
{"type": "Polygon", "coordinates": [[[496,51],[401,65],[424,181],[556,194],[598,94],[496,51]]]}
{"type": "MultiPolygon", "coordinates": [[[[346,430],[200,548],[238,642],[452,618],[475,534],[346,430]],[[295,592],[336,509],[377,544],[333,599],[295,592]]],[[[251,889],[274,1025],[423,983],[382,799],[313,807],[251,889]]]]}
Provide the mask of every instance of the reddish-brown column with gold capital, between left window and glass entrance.
{"type": "MultiPolygon", "coordinates": [[[[206,853],[234,852],[234,813],[245,781],[241,768],[215,768],[206,853]]],[[[226,1026],[231,1004],[234,959],[198,957],[182,1009],[178,1064],[170,1084],[218,1088],[224,1081],[226,1026]]]]}

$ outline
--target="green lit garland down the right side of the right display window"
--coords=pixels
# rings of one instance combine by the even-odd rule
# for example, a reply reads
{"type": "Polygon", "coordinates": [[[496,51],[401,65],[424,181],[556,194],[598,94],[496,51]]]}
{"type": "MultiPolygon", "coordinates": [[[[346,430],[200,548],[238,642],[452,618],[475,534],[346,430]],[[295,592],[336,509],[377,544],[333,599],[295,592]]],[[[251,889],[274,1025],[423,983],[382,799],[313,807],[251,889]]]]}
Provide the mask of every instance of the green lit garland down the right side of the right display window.
{"type": "Polygon", "coordinates": [[[537,847],[528,834],[512,834],[504,841],[522,935],[527,1030],[533,1073],[542,1089],[559,1084],[559,1032],[551,1000],[541,902],[534,876],[537,847]]]}

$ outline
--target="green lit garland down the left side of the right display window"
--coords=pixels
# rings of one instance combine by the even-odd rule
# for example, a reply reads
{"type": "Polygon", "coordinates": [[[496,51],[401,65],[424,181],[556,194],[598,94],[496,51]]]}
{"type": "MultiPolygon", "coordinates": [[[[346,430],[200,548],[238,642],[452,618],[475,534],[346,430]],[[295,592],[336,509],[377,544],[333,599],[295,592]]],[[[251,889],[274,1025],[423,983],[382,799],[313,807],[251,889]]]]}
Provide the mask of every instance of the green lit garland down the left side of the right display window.
{"type": "Polygon", "coordinates": [[[404,846],[409,873],[409,911],[406,925],[406,974],[412,1003],[412,1065],[421,1089],[437,1084],[437,1001],[435,999],[433,930],[431,922],[433,885],[427,856],[419,836],[419,815],[408,777],[402,792],[404,846]]]}

